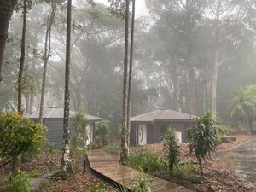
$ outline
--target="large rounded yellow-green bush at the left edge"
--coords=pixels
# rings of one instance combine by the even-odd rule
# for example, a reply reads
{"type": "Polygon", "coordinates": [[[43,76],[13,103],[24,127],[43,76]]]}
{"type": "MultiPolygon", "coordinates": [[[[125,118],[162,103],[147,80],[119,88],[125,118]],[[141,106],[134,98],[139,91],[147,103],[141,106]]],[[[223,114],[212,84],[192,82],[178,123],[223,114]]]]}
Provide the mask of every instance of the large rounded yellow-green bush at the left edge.
{"type": "Polygon", "coordinates": [[[38,151],[44,140],[44,125],[22,118],[19,113],[0,115],[0,157],[38,151]]]}

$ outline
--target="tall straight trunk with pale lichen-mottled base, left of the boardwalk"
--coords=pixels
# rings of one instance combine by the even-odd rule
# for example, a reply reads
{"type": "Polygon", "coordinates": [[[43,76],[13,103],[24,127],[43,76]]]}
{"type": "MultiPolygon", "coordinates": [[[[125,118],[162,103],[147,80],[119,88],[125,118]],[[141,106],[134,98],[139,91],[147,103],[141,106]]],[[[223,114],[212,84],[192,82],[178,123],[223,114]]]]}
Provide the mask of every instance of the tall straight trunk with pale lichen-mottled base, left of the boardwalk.
{"type": "Polygon", "coordinates": [[[69,107],[70,107],[70,49],[71,49],[71,14],[72,0],[67,0],[67,43],[66,43],[66,67],[65,67],[65,98],[63,119],[63,151],[61,159],[61,172],[65,175],[73,172],[70,158],[69,137],[69,107]]]}

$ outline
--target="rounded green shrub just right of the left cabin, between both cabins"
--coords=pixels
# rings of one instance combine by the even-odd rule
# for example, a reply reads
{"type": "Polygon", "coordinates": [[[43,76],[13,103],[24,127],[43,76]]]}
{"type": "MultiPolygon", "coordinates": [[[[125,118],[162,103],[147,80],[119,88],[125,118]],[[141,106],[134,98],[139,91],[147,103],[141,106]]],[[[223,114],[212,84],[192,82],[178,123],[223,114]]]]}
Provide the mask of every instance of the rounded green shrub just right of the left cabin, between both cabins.
{"type": "Polygon", "coordinates": [[[96,148],[102,148],[109,142],[109,126],[107,121],[103,121],[96,125],[95,141],[96,148]]]}

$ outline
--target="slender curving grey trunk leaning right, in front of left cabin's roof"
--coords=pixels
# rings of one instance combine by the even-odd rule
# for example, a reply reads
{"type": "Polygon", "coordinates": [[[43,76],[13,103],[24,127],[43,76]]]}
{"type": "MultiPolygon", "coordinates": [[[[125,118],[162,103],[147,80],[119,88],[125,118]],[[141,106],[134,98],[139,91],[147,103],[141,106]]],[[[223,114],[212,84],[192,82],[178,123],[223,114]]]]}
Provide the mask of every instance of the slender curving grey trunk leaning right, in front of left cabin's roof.
{"type": "Polygon", "coordinates": [[[44,42],[44,71],[43,71],[43,78],[42,78],[41,101],[40,101],[40,111],[39,111],[39,120],[41,124],[43,124],[44,92],[45,92],[45,80],[46,80],[46,73],[47,73],[47,63],[50,55],[51,26],[55,19],[55,13],[56,13],[56,3],[51,3],[51,11],[47,19],[45,42],[44,42]]]}

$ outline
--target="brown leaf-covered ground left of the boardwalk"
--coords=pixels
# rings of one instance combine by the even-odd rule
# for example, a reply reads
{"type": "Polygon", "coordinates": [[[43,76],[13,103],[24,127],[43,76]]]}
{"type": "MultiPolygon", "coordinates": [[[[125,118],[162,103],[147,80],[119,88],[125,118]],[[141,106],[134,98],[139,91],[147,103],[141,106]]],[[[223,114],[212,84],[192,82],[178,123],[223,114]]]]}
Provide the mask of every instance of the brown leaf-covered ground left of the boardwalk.
{"type": "MultiPolygon", "coordinates": [[[[32,161],[26,162],[22,170],[26,172],[49,172],[56,170],[60,166],[61,154],[40,154],[39,158],[33,158],[32,161]]],[[[58,177],[50,179],[50,186],[46,189],[38,190],[38,192],[95,192],[97,189],[106,189],[113,191],[113,188],[105,183],[100,177],[90,172],[86,166],[86,172],[83,175],[83,160],[82,154],[72,154],[73,174],[69,175],[66,180],[60,180],[58,177]]],[[[0,191],[3,191],[3,179],[9,175],[9,167],[5,170],[0,170],[0,191]]]]}

